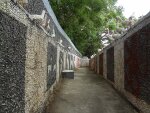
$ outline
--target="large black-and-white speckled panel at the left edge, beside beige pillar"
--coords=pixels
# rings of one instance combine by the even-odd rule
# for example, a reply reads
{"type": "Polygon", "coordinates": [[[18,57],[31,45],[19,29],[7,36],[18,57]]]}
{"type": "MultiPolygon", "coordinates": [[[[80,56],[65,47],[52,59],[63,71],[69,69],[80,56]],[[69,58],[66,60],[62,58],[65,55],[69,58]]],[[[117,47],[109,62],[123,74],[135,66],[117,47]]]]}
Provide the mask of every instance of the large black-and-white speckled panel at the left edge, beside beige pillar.
{"type": "Polygon", "coordinates": [[[0,113],[25,112],[26,32],[24,24],[0,11],[0,113]]]}

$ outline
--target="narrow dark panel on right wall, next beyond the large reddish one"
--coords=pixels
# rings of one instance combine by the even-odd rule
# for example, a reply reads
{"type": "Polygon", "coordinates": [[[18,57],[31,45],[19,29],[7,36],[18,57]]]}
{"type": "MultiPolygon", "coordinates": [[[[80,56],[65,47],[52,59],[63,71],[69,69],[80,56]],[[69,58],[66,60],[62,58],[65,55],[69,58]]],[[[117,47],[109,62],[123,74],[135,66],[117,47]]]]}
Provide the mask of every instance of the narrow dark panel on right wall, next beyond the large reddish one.
{"type": "Polygon", "coordinates": [[[114,82],[114,47],[107,50],[107,79],[114,82]]]}

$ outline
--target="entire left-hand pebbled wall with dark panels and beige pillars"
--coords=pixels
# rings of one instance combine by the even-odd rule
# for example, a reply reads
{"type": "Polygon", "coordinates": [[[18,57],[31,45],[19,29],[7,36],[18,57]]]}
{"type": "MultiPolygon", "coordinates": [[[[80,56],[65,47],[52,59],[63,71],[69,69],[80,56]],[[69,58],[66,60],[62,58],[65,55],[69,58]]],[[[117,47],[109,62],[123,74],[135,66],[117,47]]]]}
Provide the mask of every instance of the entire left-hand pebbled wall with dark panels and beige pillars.
{"type": "Polygon", "coordinates": [[[0,113],[42,113],[61,71],[80,67],[81,54],[49,10],[42,0],[0,1],[0,113]],[[30,18],[43,10],[45,19],[30,18]]]}

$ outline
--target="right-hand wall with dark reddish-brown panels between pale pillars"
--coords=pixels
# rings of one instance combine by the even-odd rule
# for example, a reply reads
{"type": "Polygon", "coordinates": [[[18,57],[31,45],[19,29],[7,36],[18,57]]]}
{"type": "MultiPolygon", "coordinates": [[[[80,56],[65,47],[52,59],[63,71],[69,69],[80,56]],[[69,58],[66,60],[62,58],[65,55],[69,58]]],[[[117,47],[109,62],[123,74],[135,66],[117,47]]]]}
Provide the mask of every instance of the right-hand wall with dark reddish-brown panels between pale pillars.
{"type": "Polygon", "coordinates": [[[150,13],[122,37],[97,53],[90,60],[89,67],[103,75],[142,113],[150,113],[149,58],[150,13]],[[99,61],[95,63],[97,58],[99,61]],[[97,66],[99,71],[95,69],[97,66]]]}

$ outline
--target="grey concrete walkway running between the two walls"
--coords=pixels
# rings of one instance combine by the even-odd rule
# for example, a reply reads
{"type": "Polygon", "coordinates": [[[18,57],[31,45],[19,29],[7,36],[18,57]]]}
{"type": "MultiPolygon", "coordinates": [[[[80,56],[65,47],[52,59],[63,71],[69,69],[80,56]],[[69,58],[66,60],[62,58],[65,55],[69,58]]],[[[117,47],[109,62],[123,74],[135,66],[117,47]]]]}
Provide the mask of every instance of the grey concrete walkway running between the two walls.
{"type": "Polygon", "coordinates": [[[102,77],[80,68],[65,80],[49,113],[137,113],[102,77]]]}

